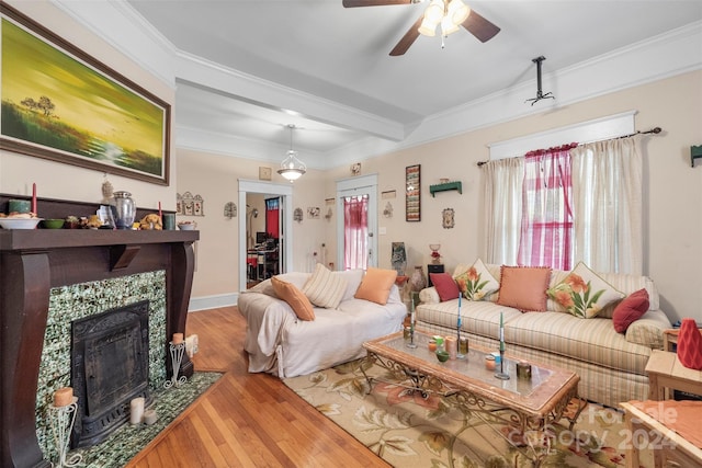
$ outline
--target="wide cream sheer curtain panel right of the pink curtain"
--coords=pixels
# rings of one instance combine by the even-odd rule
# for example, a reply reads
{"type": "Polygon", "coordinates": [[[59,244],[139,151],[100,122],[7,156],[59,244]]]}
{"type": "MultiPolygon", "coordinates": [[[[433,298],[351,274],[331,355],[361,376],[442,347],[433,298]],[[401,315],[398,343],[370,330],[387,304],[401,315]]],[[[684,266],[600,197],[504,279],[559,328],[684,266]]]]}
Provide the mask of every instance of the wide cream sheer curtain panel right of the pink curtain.
{"type": "Polygon", "coordinates": [[[575,261],[643,274],[641,136],[574,148],[575,261]]]}

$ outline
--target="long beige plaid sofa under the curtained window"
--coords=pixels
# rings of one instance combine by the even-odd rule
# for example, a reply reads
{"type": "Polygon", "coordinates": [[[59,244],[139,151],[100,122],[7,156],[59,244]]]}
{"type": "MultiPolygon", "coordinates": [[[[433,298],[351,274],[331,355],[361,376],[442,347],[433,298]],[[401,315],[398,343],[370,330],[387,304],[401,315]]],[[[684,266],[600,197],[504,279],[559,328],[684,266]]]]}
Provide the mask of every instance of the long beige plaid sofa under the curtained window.
{"type": "MultiPolygon", "coordinates": [[[[500,265],[487,265],[499,281],[500,265]]],[[[569,272],[553,271],[550,287],[561,283],[569,272]]],[[[663,349],[663,331],[671,328],[659,309],[653,281],[646,276],[599,274],[618,290],[629,295],[645,288],[649,310],[625,333],[618,333],[612,322],[614,306],[596,318],[582,319],[557,311],[547,301],[543,312],[522,312],[490,300],[463,300],[462,334],[471,345],[498,350],[499,321],[502,312],[507,354],[533,363],[543,363],[575,372],[580,376],[579,395],[590,401],[616,407],[621,401],[648,398],[645,367],[652,350],[663,349]]],[[[441,303],[434,287],[423,289],[416,308],[417,327],[438,334],[454,334],[458,300],[441,303]]]]}

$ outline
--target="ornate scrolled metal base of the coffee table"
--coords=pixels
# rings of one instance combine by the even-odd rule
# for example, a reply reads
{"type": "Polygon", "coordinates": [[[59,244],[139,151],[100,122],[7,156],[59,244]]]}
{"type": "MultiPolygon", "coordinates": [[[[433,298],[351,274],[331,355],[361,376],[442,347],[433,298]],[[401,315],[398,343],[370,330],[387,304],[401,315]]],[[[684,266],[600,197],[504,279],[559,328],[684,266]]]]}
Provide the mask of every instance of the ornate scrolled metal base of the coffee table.
{"type": "MultiPolygon", "coordinates": [[[[573,431],[580,412],[587,406],[587,401],[577,396],[577,387],[575,387],[565,393],[547,414],[533,416],[514,408],[498,406],[475,392],[452,388],[442,381],[440,377],[426,375],[376,353],[369,351],[367,359],[370,363],[388,370],[393,378],[397,379],[393,384],[405,387],[410,392],[417,391],[422,398],[428,398],[430,393],[451,398],[462,410],[475,414],[492,427],[507,443],[531,459],[536,468],[541,466],[551,450],[551,434],[553,432],[548,427],[565,419],[569,423],[568,430],[573,431]],[[566,414],[568,403],[573,399],[578,400],[578,408],[574,414],[566,414]],[[511,426],[512,431],[505,435],[494,427],[496,424],[511,426]]],[[[361,372],[369,385],[370,393],[373,388],[373,380],[381,381],[381,379],[369,376],[365,367],[361,366],[361,372]]]]}

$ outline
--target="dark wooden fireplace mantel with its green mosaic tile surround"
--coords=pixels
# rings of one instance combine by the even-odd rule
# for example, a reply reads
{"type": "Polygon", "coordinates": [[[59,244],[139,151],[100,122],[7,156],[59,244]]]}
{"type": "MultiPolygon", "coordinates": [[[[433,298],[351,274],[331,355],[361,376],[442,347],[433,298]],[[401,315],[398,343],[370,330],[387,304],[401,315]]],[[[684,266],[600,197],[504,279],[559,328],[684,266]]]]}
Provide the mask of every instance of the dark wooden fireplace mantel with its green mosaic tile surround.
{"type": "MultiPolygon", "coordinates": [[[[0,210],[7,199],[0,194],[0,210]]],[[[39,213],[58,218],[94,209],[91,204],[38,199],[39,213]]],[[[11,278],[0,282],[0,466],[52,467],[45,455],[50,437],[43,431],[39,444],[37,424],[45,427],[41,408],[54,389],[69,385],[70,368],[68,354],[53,359],[44,354],[70,341],[68,329],[57,328],[56,317],[68,315],[68,318],[93,313],[93,308],[97,313],[148,299],[159,317],[152,320],[160,321],[160,339],[149,343],[160,342],[166,350],[168,336],[185,331],[197,239],[197,231],[0,229],[0,276],[11,278]],[[103,294],[95,294],[94,285],[103,294]],[[71,296],[84,304],[70,306],[71,296]]],[[[149,363],[149,385],[169,372],[170,355],[161,353],[161,366],[149,363]]],[[[193,363],[183,356],[181,374],[190,378],[193,372],[193,363]]]]}

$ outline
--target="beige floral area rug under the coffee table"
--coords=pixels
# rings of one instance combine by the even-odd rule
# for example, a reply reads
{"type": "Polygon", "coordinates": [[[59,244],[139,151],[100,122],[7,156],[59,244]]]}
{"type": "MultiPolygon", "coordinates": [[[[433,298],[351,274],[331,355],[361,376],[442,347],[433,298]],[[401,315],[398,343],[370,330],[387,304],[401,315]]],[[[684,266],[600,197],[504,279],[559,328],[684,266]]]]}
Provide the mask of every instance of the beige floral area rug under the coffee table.
{"type": "MultiPolygon", "coordinates": [[[[453,397],[419,392],[399,385],[385,369],[353,361],[315,374],[284,379],[287,387],[318,411],[395,467],[532,467],[542,454],[542,467],[621,467],[631,437],[624,416],[588,403],[573,431],[568,421],[547,427],[546,445],[508,440],[508,424],[456,404],[453,397]],[[373,380],[369,384],[361,366],[373,380]]],[[[574,400],[568,411],[577,411],[574,400]]],[[[643,466],[653,467],[650,450],[643,466]]]]}

